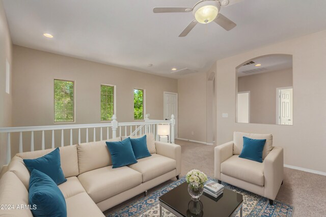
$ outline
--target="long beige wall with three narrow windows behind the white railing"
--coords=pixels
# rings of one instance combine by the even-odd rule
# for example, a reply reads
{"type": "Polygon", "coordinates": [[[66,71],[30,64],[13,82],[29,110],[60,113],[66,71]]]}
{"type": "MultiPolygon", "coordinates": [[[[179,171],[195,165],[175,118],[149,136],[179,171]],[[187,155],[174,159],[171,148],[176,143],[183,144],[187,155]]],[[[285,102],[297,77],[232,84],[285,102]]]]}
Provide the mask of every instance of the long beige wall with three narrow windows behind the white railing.
{"type": "MultiPolygon", "coordinates": [[[[116,114],[119,122],[133,121],[133,88],[146,89],[146,113],[150,113],[151,119],[163,118],[163,92],[177,92],[176,79],[16,45],[13,48],[15,60],[13,65],[13,126],[15,127],[54,124],[54,78],[75,81],[76,124],[101,122],[100,84],[117,86],[116,114]]],[[[55,125],[57,124],[55,123],[55,125]]],[[[60,134],[60,132],[58,133],[60,134]]],[[[56,139],[59,138],[56,141],[56,146],[60,144],[59,134],[56,135],[56,139]]],[[[66,135],[69,133],[66,132],[66,135]]],[[[38,136],[40,137],[40,135],[38,136]]],[[[29,135],[24,138],[24,142],[30,142],[29,135]]],[[[90,140],[92,138],[92,130],[90,130],[90,140]]],[[[35,141],[39,142],[39,139],[36,138],[35,141]]],[[[69,140],[67,142],[69,144],[69,140]]],[[[46,144],[47,147],[49,145],[46,144]]],[[[24,145],[24,151],[25,148],[28,150],[28,145],[24,145]]],[[[12,152],[17,152],[17,149],[12,152]]]]}

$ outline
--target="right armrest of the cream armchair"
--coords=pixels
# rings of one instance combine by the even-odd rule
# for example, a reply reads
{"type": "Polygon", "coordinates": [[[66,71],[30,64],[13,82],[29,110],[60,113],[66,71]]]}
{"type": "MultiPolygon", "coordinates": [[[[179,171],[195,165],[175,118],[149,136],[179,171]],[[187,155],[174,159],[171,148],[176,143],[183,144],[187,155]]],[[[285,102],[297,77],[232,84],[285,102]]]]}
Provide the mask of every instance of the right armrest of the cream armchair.
{"type": "Polygon", "coordinates": [[[274,147],[264,160],[264,196],[275,200],[283,181],[283,148],[274,147]]]}

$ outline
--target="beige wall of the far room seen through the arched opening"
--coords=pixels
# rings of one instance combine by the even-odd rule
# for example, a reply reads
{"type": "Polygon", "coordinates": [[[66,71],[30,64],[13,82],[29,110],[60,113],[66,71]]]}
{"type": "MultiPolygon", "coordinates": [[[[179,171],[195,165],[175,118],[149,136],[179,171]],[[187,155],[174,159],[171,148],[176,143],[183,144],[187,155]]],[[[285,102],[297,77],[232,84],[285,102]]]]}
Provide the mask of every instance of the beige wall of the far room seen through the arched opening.
{"type": "Polygon", "coordinates": [[[292,69],[238,77],[238,91],[250,91],[250,122],[276,124],[276,89],[292,86],[292,69]]]}

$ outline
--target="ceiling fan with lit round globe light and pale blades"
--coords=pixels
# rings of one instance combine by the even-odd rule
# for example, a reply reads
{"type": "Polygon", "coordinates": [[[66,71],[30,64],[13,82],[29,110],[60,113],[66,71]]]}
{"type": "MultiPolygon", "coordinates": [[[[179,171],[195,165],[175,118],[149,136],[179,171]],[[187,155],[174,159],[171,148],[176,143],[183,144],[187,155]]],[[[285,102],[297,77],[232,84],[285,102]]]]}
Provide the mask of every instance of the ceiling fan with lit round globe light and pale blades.
{"type": "Polygon", "coordinates": [[[195,27],[197,23],[209,23],[214,21],[229,31],[236,26],[234,22],[219,13],[221,6],[229,6],[238,3],[242,0],[202,0],[196,3],[193,8],[187,7],[157,7],[153,8],[154,13],[178,13],[178,12],[193,12],[195,19],[191,21],[182,31],[179,37],[185,37],[195,27]],[[231,2],[230,2],[231,1],[231,2]]]}

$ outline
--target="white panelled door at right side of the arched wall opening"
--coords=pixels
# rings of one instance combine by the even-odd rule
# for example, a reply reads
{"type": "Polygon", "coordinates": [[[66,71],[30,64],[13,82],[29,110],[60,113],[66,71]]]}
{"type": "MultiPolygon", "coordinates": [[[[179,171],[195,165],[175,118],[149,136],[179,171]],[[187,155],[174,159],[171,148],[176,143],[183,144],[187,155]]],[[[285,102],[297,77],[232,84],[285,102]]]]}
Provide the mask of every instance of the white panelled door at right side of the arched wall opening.
{"type": "Polygon", "coordinates": [[[293,89],[278,89],[278,119],[279,125],[293,125],[293,89]]]}

